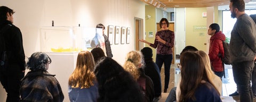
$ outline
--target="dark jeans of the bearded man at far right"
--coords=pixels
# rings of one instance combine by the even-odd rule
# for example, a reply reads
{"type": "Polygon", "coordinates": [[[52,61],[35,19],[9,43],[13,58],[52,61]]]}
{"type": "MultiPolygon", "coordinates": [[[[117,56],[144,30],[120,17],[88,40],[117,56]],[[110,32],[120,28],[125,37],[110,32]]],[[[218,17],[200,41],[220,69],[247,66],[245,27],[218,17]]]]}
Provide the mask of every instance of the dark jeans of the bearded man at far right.
{"type": "Polygon", "coordinates": [[[240,95],[240,101],[253,101],[253,94],[251,88],[251,72],[253,67],[253,61],[233,63],[233,76],[236,82],[237,90],[240,95]]]}

